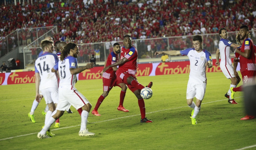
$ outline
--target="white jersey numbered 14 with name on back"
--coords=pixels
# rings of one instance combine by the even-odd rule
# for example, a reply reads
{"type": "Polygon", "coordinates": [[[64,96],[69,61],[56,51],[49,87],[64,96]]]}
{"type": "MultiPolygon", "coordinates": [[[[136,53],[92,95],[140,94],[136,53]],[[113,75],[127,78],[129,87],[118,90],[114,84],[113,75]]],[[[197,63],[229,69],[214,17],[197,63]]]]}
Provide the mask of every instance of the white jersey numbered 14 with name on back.
{"type": "Polygon", "coordinates": [[[51,69],[58,63],[58,57],[56,54],[45,52],[35,61],[35,73],[40,75],[40,90],[57,87],[58,78],[56,73],[51,69]]]}

